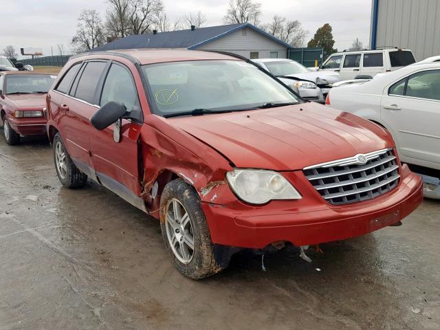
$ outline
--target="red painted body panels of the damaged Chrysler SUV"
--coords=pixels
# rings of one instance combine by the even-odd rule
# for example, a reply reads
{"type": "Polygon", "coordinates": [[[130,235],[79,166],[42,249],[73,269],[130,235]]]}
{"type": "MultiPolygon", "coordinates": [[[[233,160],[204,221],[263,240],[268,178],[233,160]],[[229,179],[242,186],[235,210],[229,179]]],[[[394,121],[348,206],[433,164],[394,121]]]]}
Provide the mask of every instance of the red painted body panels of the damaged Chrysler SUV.
{"type": "Polygon", "coordinates": [[[153,217],[159,218],[162,189],[176,177],[199,193],[213,243],[241,248],[264,248],[276,241],[309,245],[347,239],[396,223],[421,203],[421,179],[398,159],[401,179],[396,188],[375,199],[342,206],[322,199],[303,174],[305,166],[394,148],[391,135],[376,124],[309,102],[162,118],[151,113],[142,76],[126,56],[133,56],[140,65],[237,59],[186,50],[118,52],[122,55],[91,53],[72,58],[58,77],[80,61],[122,63],[133,75],[143,123],[122,120],[121,142],[115,143],[113,126],[97,131],[90,124],[98,106],[51,89],[47,94],[48,133],[51,141],[61,133],[78,168],[91,177],[102,173],[122,184],[126,190],[119,195],[153,217]],[[262,206],[245,203],[225,179],[233,168],[280,171],[303,199],[270,201],[262,206]]]}

